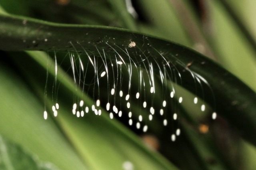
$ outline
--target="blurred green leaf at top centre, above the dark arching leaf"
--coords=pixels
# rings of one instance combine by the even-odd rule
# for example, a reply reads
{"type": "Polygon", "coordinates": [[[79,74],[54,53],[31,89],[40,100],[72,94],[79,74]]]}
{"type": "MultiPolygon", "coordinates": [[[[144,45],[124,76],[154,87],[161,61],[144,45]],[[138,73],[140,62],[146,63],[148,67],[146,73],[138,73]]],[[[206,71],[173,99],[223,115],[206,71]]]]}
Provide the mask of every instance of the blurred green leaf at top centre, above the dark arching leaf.
{"type": "Polygon", "coordinates": [[[187,47],[193,44],[184,30],[174,7],[168,0],[140,0],[137,2],[146,16],[151,35],[180,43],[187,47]]]}

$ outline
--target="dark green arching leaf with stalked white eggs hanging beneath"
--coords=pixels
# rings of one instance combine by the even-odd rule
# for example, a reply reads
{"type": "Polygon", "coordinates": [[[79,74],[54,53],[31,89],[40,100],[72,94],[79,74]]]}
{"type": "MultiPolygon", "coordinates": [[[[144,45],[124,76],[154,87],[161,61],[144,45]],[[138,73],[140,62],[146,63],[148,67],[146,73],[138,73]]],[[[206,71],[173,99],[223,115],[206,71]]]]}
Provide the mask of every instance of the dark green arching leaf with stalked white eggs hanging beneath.
{"type": "MultiPolygon", "coordinates": [[[[203,93],[197,91],[196,95],[204,96],[204,100],[212,108],[216,108],[219,115],[237,127],[244,138],[256,144],[256,94],[228,71],[194,51],[117,28],[54,24],[14,16],[1,16],[0,21],[2,50],[74,51],[75,47],[77,51],[89,51],[94,55],[97,55],[97,49],[105,49],[108,56],[111,56],[116,53],[125,55],[121,48],[124,47],[134,58],[138,53],[144,55],[143,51],[149,51],[157,59],[161,59],[161,54],[164,54],[181,70],[192,63],[190,71],[204,77],[212,89],[209,90],[208,85],[204,84],[203,88],[208,90],[203,93]],[[136,42],[135,48],[128,48],[131,41],[136,42]],[[115,50],[109,45],[114,46],[115,50]],[[247,122],[246,125],[244,121],[247,122]]],[[[191,86],[193,83],[194,79],[189,71],[182,73],[182,87],[195,93],[194,86],[191,86]]]]}

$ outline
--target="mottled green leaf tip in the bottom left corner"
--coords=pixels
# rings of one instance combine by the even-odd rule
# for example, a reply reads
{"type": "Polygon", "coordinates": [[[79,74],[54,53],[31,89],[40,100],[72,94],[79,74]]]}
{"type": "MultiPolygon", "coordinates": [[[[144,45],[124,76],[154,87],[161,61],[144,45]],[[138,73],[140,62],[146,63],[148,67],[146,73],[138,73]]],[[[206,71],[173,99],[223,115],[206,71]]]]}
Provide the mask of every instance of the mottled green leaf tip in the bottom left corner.
{"type": "Polygon", "coordinates": [[[34,155],[28,154],[20,146],[0,136],[1,170],[57,170],[53,164],[43,163],[34,155]]]}

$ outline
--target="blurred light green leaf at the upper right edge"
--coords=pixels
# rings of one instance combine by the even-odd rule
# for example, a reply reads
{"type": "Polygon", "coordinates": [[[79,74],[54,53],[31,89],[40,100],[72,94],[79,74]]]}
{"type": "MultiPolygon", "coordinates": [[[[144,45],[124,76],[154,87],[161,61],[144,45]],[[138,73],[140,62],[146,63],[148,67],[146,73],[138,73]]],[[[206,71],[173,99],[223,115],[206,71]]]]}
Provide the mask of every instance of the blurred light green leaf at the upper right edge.
{"type": "Polygon", "coordinates": [[[220,63],[256,91],[254,49],[222,4],[218,1],[209,2],[214,30],[211,41],[219,53],[220,63]]]}

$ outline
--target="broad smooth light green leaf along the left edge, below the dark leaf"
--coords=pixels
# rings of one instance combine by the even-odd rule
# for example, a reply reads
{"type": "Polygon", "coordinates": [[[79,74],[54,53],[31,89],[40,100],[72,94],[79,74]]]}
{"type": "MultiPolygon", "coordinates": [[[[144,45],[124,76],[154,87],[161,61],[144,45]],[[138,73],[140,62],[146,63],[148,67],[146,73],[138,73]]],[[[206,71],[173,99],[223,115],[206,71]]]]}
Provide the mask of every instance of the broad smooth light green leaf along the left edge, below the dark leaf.
{"type": "Polygon", "coordinates": [[[85,169],[54,120],[44,121],[40,101],[10,65],[2,61],[0,79],[0,134],[62,170],[85,169]]]}

